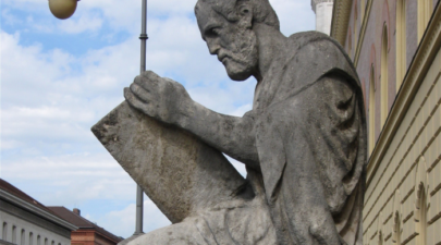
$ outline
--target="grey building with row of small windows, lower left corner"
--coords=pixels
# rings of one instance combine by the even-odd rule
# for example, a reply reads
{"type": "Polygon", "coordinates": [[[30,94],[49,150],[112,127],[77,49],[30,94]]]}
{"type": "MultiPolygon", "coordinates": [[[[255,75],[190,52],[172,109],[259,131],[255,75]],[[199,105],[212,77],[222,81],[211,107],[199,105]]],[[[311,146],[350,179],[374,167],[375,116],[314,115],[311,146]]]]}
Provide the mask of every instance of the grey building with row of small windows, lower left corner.
{"type": "Polygon", "coordinates": [[[69,245],[77,228],[0,179],[0,244],[69,245]]]}

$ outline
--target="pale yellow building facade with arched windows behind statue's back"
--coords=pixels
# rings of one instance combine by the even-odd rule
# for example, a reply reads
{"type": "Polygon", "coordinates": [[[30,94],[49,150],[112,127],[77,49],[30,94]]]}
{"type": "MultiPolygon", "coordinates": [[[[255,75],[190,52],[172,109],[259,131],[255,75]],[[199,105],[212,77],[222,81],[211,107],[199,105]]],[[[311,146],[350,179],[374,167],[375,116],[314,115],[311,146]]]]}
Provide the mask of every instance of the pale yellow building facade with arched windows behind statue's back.
{"type": "Polygon", "coordinates": [[[368,121],[364,244],[441,244],[439,0],[335,0],[368,121]]]}

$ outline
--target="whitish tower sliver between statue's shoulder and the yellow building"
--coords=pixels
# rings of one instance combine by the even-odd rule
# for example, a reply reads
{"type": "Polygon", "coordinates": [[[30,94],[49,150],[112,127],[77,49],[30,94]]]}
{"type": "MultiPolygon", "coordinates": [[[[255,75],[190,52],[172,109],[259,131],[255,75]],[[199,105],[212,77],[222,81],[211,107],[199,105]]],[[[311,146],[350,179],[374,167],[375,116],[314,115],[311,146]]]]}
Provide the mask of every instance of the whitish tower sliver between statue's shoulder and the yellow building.
{"type": "Polygon", "coordinates": [[[332,7],[334,0],[310,0],[314,13],[316,13],[316,30],[330,34],[332,21],[332,7]]]}

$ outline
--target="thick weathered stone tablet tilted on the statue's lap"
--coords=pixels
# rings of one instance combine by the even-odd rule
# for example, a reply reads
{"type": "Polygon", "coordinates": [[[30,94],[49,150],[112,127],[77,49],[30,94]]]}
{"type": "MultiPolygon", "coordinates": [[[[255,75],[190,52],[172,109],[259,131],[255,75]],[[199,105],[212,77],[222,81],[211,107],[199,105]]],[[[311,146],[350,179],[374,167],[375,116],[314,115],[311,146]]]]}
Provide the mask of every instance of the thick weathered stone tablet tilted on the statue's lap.
{"type": "Polygon", "coordinates": [[[173,223],[233,199],[245,183],[220,151],[126,101],[91,131],[173,223]]]}

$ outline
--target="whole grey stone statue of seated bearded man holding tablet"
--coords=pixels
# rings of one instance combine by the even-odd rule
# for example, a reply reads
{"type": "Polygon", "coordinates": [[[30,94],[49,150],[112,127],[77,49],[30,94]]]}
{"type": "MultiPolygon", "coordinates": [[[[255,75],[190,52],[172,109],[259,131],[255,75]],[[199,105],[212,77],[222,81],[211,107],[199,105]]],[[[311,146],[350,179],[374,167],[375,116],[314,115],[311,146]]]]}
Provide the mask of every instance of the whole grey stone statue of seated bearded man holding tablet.
{"type": "Polygon", "coordinates": [[[173,222],[130,244],[362,245],[366,119],[342,47],[283,36],[268,0],[199,0],[195,13],[229,76],[257,79],[253,110],[213,112],[154,72],[124,89],[93,132],[173,222]]]}

